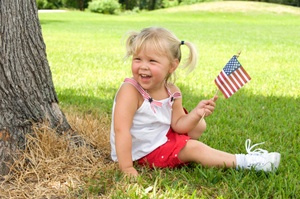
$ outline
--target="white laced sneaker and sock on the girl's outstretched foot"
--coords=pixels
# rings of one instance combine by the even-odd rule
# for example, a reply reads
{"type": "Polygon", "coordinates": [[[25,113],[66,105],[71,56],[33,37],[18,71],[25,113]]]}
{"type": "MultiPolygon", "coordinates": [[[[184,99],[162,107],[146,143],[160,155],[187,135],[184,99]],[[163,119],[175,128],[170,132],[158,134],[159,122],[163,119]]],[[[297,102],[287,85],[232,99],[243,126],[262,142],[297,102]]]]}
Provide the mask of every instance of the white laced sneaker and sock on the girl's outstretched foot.
{"type": "Polygon", "coordinates": [[[262,143],[254,144],[250,147],[251,140],[247,139],[245,142],[246,151],[245,155],[246,169],[254,168],[256,171],[275,171],[280,163],[280,154],[277,152],[268,153],[267,150],[258,148],[251,151],[254,147],[262,143]]]}

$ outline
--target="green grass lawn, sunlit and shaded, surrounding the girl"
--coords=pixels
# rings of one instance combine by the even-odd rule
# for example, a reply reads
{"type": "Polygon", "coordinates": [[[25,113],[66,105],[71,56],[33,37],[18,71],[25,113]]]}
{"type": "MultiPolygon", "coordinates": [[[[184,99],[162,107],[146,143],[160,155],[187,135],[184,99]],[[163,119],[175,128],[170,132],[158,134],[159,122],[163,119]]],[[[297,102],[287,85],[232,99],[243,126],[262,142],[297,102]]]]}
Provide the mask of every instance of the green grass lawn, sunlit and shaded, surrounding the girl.
{"type": "Polygon", "coordinates": [[[195,43],[199,51],[199,64],[191,74],[177,71],[176,83],[188,110],[214,95],[214,78],[231,56],[242,50],[239,61],[252,80],[229,99],[219,93],[217,109],[207,118],[201,141],[231,153],[244,153],[247,138],[254,143],[266,141],[262,148],[282,155],[278,171],[265,174],[194,164],[175,170],[139,168],[142,176],[137,183],[129,183],[112,169],[99,171],[101,177],[89,179],[79,195],[296,198],[300,195],[300,15],[183,8],[120,16],[40,13],[60,106],[66,111],[110,114],[115,92],[130,76],[130,60],[123,59],[124,34],[163,26],[195,43]]]}

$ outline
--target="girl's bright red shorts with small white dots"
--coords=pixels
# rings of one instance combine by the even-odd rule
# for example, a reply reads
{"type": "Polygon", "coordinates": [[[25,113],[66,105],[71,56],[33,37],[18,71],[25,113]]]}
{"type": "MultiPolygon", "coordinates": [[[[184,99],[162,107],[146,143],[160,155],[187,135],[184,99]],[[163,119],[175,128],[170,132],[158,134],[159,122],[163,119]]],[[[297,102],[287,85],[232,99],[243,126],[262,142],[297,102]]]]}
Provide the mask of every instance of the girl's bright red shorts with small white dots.
{"type": "Polygon", "coordinates": [[[170,128],[167,133],[168,141],[146,155],[145,157],[139,159],[137,162],[140,165],[146,165],[150,168],[159,167],[174,168],[177,166],[184,165],[178,158],[178,153],[186,145],[190,137],[186,134],[178,134],[170,128]]]}

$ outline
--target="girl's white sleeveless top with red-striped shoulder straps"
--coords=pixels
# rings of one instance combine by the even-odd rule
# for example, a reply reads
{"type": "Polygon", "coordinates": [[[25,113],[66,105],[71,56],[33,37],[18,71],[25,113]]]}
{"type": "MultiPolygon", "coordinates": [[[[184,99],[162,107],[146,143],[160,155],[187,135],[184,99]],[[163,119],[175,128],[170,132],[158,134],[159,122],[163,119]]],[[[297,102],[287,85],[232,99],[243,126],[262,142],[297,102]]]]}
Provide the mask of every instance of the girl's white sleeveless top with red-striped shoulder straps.
{"type": "MultiPolygon", "coordinates": [[[[138,160],[151,153],[157,147],[167,142],[167,133],[171,125],[172,104],[174,99],[180,98],[181,94],[171,94],[163,100],[153,100],[150,95],[134,80],[126,78],[124,82],[132,84],[144,97],[144,102],[136,111],[130,133],[132,136],[132,161],[138,160]]],[[[112,110],[112,122],[110,132],[111,158],[117,160],[114,132],[114,100],[112,110]]]]}

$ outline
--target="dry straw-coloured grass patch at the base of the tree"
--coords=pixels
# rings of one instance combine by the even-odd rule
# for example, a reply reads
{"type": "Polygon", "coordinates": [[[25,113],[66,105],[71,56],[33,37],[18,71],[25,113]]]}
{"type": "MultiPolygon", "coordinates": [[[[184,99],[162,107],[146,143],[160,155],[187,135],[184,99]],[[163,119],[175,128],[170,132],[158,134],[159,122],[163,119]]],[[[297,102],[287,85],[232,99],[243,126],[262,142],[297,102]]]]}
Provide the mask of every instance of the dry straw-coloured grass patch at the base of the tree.
{"type": "Polygon", "coordinates": [[[83,137],[79,144],[69,135],[58,135],[46,125],[34,126],[26,136],[26,150],[3,176],[0,198],[77,198],[87,181],[112,170],[108,116],[67,115],[72,128],[83,137]]]}

